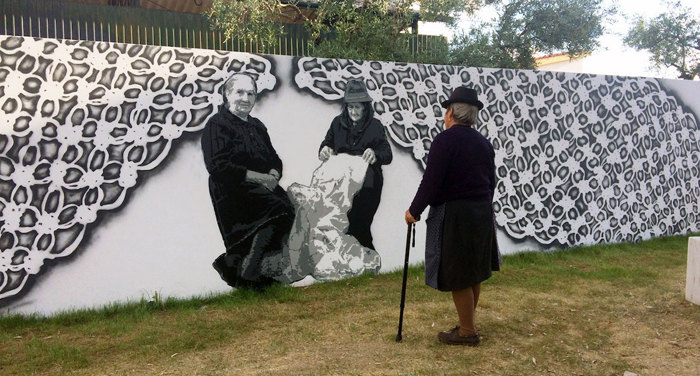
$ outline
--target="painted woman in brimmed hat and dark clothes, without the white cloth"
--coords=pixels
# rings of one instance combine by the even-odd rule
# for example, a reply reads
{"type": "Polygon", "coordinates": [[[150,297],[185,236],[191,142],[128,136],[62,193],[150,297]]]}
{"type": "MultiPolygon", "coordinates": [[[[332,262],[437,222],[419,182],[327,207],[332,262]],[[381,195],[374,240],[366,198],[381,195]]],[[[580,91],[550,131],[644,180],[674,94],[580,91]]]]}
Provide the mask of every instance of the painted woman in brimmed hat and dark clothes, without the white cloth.
{"type": "Polygon", "coordinates": [[[370,230],[384,185],[382,165],[391,163],[391,147],[384,126],[374,118],[372,97],[363,81],[349,80],[345,85],[343,112],[331,122],[321,143],[318,158],[326,161],[331,155],[360,155],[369,163],[362,188],[348,212],[347,234],[367,248],[374,249],[370,230]]]}

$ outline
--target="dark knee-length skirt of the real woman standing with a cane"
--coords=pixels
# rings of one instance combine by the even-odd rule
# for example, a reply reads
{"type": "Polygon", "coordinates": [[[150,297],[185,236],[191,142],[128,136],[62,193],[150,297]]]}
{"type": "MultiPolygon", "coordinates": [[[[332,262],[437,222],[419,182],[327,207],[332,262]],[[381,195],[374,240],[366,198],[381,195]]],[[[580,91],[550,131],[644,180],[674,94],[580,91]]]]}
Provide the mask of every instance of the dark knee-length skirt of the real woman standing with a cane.
{"type": "Polygon", "coordinates": [[[456,291],[500,270],[491,201],[450,201],[431,207],[426,221],[426,284],[456,291]]]}

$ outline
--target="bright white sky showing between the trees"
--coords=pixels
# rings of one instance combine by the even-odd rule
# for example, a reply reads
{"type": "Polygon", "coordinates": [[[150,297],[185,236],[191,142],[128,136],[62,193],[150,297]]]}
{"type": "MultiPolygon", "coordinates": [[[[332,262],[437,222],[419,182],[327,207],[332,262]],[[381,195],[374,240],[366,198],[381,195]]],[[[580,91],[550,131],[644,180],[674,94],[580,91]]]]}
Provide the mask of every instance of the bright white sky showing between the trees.
{"type": "MultiPolygon", "coordinates": [[[[612,0],[605,0],[608,5],[612,2],[612,0]]],[[[620,14],[614,18],[613,22],[606,25],[608,32],[600,39],[601,47],[591,56],[584,58],[583,73],[678,78],[678,72],[675,69],[656,71],[650,68],[647,52],[635,51],[622,43],[622,38],[630,27],[625,15],[630,18],[635,15],[647,19],[653,18],[665,11],[665,4],[658,0],[617,0],[616,3],[620,14]]],[[[700,14],[700,1],[681,0],[681,3],[700,14]]],[[[458,29],[468,29],[479,21],[491,21],[495,16],[495,10],[486,7],[472,17],[463,18],[458,29]]],[[[447,35],[448,38],[454,33],[447,28],[433,25],[422,25],[419,30],[421,34],[442,34],[447,35]]]]}

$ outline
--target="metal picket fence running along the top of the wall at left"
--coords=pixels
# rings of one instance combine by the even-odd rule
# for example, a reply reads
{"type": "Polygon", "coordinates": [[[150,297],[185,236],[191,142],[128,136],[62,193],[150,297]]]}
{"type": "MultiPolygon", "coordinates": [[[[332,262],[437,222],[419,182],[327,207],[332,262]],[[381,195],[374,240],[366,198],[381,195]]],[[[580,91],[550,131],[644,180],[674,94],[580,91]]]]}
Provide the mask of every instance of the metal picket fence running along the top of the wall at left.
{"type": "MultiPolygon", "coordinates": [[[[0,17],[0,35],[261,52],[252,41],[225,40],[203,14],[61,0],[0,0],[0,17]]],[[[308,56],[304,26],[283,28],[278,46],[268,53],[308,56]]],[[[418,35],[410,48],[415,56],[438,43],[445,43],[444,38],[418,35]]]]}

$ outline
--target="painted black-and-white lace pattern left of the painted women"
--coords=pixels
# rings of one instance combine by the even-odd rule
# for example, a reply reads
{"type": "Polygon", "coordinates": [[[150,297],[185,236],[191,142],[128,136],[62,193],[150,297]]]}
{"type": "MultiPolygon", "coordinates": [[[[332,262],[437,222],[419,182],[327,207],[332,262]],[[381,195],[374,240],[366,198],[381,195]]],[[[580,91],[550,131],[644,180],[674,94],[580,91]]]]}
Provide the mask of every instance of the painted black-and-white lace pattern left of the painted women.
{"type": "Polygon", "coordinates": [[[223,81],[276,78],[244,53],[0,37],[0,299],[119,208],[174,140],[201,130],[223,81]]]}

